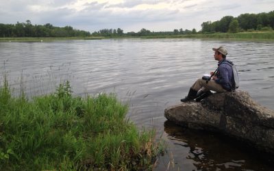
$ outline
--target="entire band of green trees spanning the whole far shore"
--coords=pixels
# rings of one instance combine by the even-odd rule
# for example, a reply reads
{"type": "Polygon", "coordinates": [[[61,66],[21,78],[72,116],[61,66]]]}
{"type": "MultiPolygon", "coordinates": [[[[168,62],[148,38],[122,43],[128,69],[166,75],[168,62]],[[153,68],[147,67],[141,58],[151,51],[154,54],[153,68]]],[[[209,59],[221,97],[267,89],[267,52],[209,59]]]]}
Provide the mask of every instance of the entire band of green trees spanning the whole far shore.
{"type": "Polygon", "coordinates": [[[0,37],[36,37],[36,38],[62,38],[62,37],[87,37],[87,36],[103,36],[103,37],[119,37],[119,36],[173,36],[197,33],[237,33],[238,31],[253,30],[273,30],[274,29],[274,11],[262,12],[259,14],[240,14],[238,17],[224,16],[220,21],[207,21],[201,24],[201,31],[196,29],[174,29],[173,31],[150,31],[142,28],[138,32],[123,32],[123,29],[101,29],[94,31],[92,34],[88,31],[73,29],[71,26],[54,27],[47,23],[45,25],[32,25],[27,20],[26,23],[1,24],[0,37]]]}

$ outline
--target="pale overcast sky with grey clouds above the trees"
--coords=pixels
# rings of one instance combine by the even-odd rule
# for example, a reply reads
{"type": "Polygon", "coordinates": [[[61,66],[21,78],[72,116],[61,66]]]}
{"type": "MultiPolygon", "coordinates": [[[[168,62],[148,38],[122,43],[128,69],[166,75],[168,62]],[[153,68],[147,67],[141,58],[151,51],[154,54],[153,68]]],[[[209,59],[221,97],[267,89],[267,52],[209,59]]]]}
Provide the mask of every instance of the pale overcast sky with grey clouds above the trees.
{"type": "Polygon", "coordinates": [[[25,23],[124,32],[201,29],[223,16],[270,12],[274,0],[0,0],[0,23],[25,23]]]}

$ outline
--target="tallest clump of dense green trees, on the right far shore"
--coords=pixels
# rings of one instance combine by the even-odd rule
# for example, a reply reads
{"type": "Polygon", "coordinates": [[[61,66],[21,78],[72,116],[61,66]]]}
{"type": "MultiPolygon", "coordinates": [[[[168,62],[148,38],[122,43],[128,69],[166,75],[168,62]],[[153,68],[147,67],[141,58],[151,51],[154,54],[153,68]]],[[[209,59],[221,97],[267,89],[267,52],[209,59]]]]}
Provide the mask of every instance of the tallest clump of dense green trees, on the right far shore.
{"type": "Polygon", "coordinates": [[[201,24],[202,33],[236,33],[238,31],[273,30],[274,11],[259,14],[240,14],[238,17],[224,16],[220,21],[207,21],[201,24]]]}

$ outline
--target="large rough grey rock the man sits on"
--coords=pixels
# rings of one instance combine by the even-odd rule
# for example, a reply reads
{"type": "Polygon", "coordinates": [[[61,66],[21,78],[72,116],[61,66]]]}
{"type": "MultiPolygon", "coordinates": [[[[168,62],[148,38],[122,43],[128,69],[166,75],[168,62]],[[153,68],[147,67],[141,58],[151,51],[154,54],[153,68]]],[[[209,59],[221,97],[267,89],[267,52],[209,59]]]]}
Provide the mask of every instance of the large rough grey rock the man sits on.
{"type": "Polygon", "coordinates": [[[168,107],[164,116],[190,129],[232,135],[274,154],[274,111],[253,101],[247,92],[214,93],[201,103],[168,107]]]}

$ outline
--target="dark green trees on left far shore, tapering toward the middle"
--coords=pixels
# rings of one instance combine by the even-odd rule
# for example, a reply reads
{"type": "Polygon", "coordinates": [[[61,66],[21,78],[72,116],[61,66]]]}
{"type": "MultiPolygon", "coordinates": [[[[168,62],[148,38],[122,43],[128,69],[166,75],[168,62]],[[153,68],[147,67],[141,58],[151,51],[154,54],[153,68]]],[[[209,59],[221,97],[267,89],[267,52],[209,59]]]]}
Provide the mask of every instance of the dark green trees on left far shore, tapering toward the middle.
{"type": "Polygon", "coordinates": [[[86,37],[90,32],[73,29],[71,26],[55,27],[50,23],[45,25],[32,25],[31,21],[26,23],[1,24],[0,37],[14,38],[64,38],[64,37],[86,37]]]}

